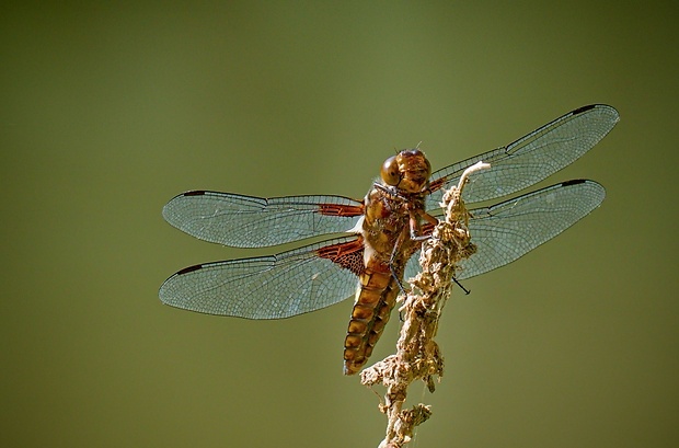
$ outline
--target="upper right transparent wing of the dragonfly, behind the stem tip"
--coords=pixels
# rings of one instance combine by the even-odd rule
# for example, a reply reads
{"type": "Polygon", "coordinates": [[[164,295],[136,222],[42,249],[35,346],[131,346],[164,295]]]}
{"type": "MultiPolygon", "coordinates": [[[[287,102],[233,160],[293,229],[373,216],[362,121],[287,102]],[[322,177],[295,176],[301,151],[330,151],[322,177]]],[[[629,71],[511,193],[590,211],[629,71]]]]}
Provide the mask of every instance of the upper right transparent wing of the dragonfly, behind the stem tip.
{"type": "Polygon", "coordinates": [[[492,151],[436,171],[428,210],[439,208],[442,189],[457,185],[462,172],[482,160],[488,170],[472,174],[462,197],[467,204],[502,197],[527,188],[567,166],[601,140],[620,119],[618,111],[592,104],[572,111],[525,137],[492,151]]]}

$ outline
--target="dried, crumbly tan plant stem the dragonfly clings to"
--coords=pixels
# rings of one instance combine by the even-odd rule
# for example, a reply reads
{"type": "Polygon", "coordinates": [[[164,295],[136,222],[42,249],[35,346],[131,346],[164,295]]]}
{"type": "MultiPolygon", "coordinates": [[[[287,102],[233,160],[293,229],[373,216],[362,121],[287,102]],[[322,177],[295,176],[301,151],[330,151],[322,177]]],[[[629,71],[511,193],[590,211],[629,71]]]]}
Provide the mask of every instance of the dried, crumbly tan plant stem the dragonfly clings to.
{"type": "Polygon", "coordinates": [[[490,168],[479,162],[468,168],[458,186],[444,194],[441,206],[446,220],[434,229],[431,238],[422,246],[419,264],[422,273],[408,283],[411,291],[403,300],[400,311],[403,315],[396,354],[367,368],[360,374],[361,383],[387,387],[380,411],[387,414],[387,435],[379,448],[396,448],[407,444],[414,428],[431,414],[429,406],[422,403],[411,410],[403,410],[408,386],[422,379],[434,392],[434,379],[444,372],[444,358],[434,342],[440,311],[450,295],[451,282],[460,260],[475,252],[468,230],[469,214],[460,196],[468,176],[490,168]]]}

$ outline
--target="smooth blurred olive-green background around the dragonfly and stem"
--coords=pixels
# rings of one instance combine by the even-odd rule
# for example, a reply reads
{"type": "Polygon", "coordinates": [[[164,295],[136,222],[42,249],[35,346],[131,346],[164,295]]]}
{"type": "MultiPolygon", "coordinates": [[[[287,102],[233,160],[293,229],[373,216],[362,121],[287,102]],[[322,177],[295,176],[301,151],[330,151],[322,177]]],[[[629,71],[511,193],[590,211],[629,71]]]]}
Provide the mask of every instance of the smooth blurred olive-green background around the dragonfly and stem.
{"type": "Polygon", "coordinates": [[[0,8],[0,445],[377,446],[378,399],[342,375],[350,303],[162,306],[179,268],[266,252],[187,237],[164,203],[362,197],[394,148],[441,168],[608,103],[615,129],[549,180],[595,179],[603,206],[456,290],[416,443],[679,446],[671,2],[20,4],[0,8]]]}

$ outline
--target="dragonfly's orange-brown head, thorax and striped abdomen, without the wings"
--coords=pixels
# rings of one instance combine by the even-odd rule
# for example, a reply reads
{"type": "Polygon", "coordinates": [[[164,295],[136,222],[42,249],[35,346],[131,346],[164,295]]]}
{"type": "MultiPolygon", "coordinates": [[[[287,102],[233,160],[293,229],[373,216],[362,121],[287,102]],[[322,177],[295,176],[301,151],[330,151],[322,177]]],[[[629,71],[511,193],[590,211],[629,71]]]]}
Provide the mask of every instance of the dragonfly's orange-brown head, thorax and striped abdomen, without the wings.
{"type": "Polygon", "coordinates": [[[366,195],[357,229],[365,246],[364,269],[344,341],[345,375],[358,372],[372,354],[401,292],[405,264],[421,245],[411,237],[418,234],[421,218],[428,217],[424,199],[429,162],[418,150],[402,151],[392,159],[382,169],[382,184],[366,195]],[[387,182],[394,176],[398,182],[387,182]]]}

